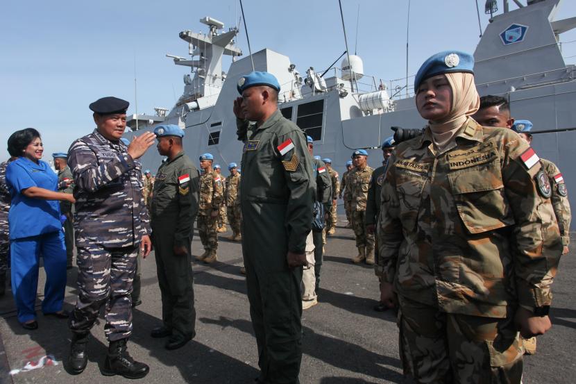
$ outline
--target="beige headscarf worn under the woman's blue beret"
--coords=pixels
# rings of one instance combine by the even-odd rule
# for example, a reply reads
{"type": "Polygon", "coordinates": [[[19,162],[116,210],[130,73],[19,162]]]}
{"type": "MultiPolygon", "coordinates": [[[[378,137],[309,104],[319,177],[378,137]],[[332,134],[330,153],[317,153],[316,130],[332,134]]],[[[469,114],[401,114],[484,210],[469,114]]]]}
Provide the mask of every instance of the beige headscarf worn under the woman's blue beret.
{"type": "Polygon", "coordinates": [[[440,152],[452,144],[459,128],[480,108],[480,96],[474,84],[474,75],[468,72],[444,74],[452,88],[452,106],[443,119],[428,122],[434,145],[440,152]]]}

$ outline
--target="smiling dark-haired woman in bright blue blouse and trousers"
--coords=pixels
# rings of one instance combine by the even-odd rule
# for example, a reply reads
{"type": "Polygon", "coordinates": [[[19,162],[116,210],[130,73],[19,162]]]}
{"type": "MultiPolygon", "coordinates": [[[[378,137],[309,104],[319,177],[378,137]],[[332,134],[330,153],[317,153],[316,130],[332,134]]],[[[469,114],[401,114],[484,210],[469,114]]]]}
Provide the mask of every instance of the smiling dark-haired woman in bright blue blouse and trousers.
{"type": "Polygon", "coordinates": [[[8,213],[12,293],[18,321],[26,329],[36,329],[34,303],[40,255],[44,258],[46,271],[42,312],[44,315],[67,317],[62,310],[66,248],[58,201],[75,201],[71,194],[56,192],[58,176],[40,160],[42,140],[34,128],[12,133],[8,138],[8,152],[17,157],[6,168],[6,183],[12,195],[8,213]]]}

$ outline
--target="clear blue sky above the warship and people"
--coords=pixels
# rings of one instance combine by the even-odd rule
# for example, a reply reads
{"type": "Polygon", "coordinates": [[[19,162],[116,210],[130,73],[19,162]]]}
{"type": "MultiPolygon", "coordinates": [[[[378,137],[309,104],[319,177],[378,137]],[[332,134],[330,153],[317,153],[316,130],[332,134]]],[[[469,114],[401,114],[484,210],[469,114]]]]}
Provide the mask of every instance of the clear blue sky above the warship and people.
{"type": "MultiPolygon", "coordinates": [[[[348,45],[364,60],[364,72],[383,81],[403,78],[407,0],[342,3],[348,45]]],[[[484,0],[478,3],[484,29],[489,17],[484,0]]],[[[325,69],[345,50],[337,0],[244,0],[244,12],[253,51],[267,47],[284,53],[300,73],[308,67],[325,69]]],[[[99,97],[126,99],[128,113],[135,113],[135,76],[139,113],[171,108],[188,73],[164,56],[187,56],[187,43],[178,33],[205,32],[198,22],[205,16],[228,28],[240,14],[237,0],[5,1],[0,14],[1,145],[6,148],[12,132],[33,126],[42,133],[44,160],[52,152],[67,151],[74,139],[94,128],[88,104],[99,97]]],[[[557,19],[574,16],[576,1],[565,0],[557,19]]],[[[412,0],[409,25],[409,74],[432,53],[472,53],[478,42],[474,0],[412,0]]],[[[561,41],[571,40],[576,40],[575,31],[561,36],[561,41]]],[[[237,45],[248,54],[243,25],[237,45]]],[[[566,44],[563,54],[576,56],[576,42],[566,44]]],[[[229,63],[223,63],[223,70],[229,63]]],[[[0,158],[7,156],[2,151],[0,158]]]]}

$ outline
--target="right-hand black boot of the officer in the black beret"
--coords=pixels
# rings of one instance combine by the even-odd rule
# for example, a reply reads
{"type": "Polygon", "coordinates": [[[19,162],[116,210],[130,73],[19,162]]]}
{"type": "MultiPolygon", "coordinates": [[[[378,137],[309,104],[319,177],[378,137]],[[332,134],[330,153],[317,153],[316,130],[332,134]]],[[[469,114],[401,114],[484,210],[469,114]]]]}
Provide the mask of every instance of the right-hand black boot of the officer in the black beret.
{"type": "Polygon", "coordinates": [[[121,375],[125,378],[143,378],[150,371],[150,367],[144,362],[134,361],[126,351],[126,342],[121,339],[110,342],[108,347],[108,356],[104,362],[102,374],[104,376],[121,375]]]}

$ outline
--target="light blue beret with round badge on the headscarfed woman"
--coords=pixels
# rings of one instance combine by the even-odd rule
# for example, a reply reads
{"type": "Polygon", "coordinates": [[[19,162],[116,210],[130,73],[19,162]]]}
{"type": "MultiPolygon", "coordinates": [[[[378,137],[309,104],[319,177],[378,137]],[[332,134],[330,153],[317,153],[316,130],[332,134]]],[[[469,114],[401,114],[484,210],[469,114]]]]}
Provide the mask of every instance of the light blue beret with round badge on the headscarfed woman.
{"type": "Polygon", "coordinates": [[[450,72],[474,73],[474,57],[462,51],[443,51],[430,56],[418,69],[414,78],[414,92],[425,79],[450,72]]]}

